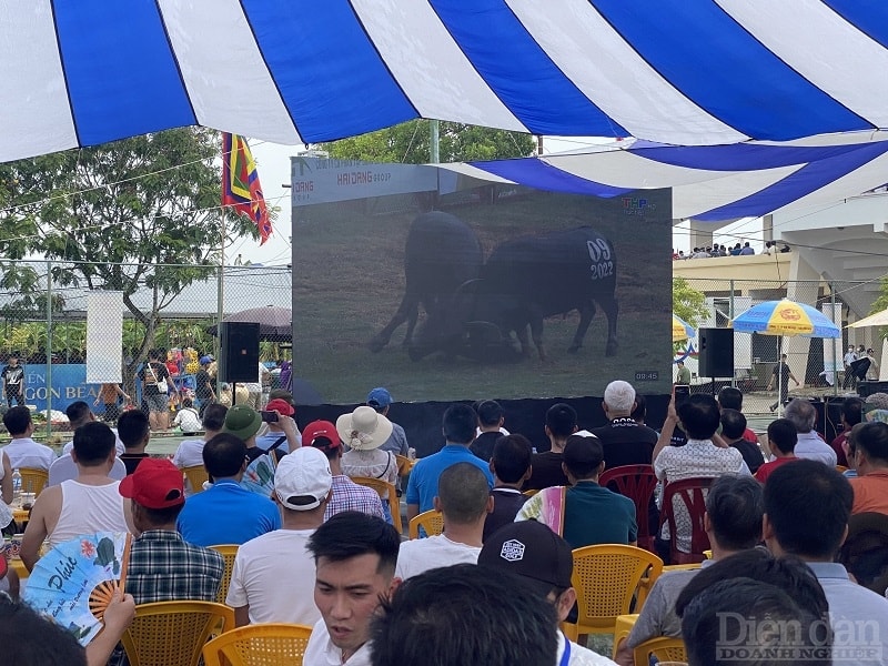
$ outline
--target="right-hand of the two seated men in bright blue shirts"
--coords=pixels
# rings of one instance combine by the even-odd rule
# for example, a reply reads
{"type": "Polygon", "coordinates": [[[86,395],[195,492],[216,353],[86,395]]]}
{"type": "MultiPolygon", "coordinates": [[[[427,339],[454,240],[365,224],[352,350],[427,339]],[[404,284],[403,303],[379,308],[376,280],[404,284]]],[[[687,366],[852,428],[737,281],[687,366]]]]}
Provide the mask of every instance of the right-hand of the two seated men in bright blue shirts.
{"type": "Polygon", "coordinates": [[[410,473],[407,482],[407,521],[434,508],[437,480],[441,473],[456,463],[471,463],[484,472],[487,484],[493,487],[493,475],[487,463],[468,450],[475,438],[478,417],[468,405],[454,404],[444,412],[444,448],[420,460],[410,473]]]}

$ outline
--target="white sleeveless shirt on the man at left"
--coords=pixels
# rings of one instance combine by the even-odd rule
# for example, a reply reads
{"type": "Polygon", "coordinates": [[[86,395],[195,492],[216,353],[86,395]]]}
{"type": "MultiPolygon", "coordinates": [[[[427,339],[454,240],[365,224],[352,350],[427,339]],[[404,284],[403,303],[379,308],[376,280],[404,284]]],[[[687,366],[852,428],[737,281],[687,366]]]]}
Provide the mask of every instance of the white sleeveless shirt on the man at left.
{"type": "Polygon", "coordinates": [[[123,496],[115,481],[103,486],[63,481],[62,511],[56,529],[49,535],[50,546],[95,532],[129,532],[123,517],[123,496]]]}

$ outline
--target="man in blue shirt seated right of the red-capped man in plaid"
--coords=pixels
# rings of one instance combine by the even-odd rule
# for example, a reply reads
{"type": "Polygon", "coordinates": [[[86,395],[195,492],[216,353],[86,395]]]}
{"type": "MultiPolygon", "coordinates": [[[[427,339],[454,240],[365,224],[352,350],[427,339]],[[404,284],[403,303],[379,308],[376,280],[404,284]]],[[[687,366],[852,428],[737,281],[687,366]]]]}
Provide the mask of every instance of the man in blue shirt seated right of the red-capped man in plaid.
{"type": "Polygon", "coordinates": [[[185,501],[175,527],[198,546],[242,544],[281,528],[278,506],[268,497],[241,487],[249,464],[246,445],[231,433],[219,433],[203,447],[203,466],[213,485],[185,501]]]}

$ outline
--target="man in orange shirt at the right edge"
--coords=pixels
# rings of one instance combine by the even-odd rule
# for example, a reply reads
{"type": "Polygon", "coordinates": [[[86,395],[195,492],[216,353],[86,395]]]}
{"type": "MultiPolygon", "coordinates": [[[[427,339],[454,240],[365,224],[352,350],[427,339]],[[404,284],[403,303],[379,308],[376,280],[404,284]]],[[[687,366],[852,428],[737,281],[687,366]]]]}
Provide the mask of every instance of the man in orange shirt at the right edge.
{"type": "Polygon", "coordinates": [[[854,431],[854,446],[857,477],[849,480],[854,488],[851,513],[888,515],[888,424],[860,424],[854,431]]]}

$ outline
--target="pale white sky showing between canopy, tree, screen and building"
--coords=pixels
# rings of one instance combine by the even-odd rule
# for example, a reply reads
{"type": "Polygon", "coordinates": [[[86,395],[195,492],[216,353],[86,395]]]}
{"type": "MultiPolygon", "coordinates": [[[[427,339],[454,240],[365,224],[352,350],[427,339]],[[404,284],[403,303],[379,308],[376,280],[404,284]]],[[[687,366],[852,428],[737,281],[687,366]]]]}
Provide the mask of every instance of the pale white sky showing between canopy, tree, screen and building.
{"type": "MultiPolygon", "coordinates": [[[[596,138],[562,138],[546,137],[543,141],[544,153],[577,150],[584,147],[601,145],[610,139],[596,138]]],[[[238,240],[225,253],[225,263],[233,263],[238,254],[243,261],[262,263],[265,265],[284,265],[291,259],[291,205],[290,190],[284,188],[290,183],[290,158],[302,145],[283,145],[259,140],[251,140],[250,148],[259,169],[259,178],[269,206],[279,209],[278,220],[274,221],[274,232],[264,245],[251,238],[238,240]]],[[[714,243],[733,246],[736,243],[749,241],[756,252],[764,249],[764,235],[760,218],[747,218],[724,226],[715,232],[714,243]]],[[[673,230],[673,246],[688,253],[690,248],[688,224],[682,223],[673,230]]]]}

